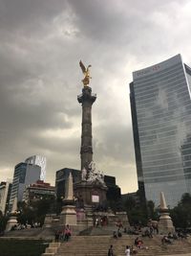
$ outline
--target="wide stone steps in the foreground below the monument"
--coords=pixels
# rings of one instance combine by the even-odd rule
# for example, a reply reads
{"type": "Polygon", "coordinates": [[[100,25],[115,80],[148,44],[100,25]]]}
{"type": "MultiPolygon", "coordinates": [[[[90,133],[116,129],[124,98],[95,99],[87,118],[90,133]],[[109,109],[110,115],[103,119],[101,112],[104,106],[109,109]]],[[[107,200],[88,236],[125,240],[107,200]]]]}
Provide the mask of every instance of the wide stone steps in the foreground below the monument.
{"type": "MultiPolygon", "coordinates": [[[[137,236],[123,235],[114,239],[111,236],[73,236],[69,242],[60,244],[55,256],[107,256],[108,248],[113,244],[115,256],[124,256],[126,245],[133,245],[137,236]]],[[[161,244],[161,238],[142,238],[144,248],[137,255],[183,255],[191,252],[191,238],[174,241],[173,244],[161,244]]],[[[48,254],[46,254],[48,256],[48,254]]],[[[50,254],[51,255],[51,254],[50,254]]],[[[53,255],[53,254],[52,254],[53,255]]]]}

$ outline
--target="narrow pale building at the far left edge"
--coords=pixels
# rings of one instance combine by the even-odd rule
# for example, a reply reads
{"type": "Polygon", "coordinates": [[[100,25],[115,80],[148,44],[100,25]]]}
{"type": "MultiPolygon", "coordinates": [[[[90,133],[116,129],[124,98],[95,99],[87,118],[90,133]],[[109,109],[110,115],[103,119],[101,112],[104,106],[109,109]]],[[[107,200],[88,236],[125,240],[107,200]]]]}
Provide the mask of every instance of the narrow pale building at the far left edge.
{"type": "Polygon", "coordinates": [[[0,183],[0,211],[5,215],[9,210],[11,196],[11,179],[0,183]]]}

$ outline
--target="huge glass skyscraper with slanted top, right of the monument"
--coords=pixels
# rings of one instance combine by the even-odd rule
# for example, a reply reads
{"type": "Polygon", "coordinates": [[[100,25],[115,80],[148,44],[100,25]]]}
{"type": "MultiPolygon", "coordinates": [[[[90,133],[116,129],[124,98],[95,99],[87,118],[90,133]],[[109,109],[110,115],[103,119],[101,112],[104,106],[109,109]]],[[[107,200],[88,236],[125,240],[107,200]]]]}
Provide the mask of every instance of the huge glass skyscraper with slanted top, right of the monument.
{"type": "Polygon", "coordinates": [[[174,207],[191,193],[191,68],[180,55],[133,72],[130,100],[142,198],[174,207]]]}

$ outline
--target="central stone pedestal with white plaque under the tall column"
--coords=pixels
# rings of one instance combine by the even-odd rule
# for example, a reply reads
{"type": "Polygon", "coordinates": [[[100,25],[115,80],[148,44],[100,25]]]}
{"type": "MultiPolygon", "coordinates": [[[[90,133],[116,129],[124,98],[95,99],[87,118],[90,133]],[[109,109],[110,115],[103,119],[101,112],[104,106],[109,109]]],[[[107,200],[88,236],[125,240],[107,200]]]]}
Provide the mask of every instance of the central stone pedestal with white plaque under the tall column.
{"type": "Polygon", "coordinates": [[[121,221],[124,227],[129,226],[126,212],[114,214],[110,209],[104,210],[106,209],[107,190],[106,185],[97,179],[93,181],[81,180],[74,183],[74,197],[78,199],[81,209],[84,209],[83,212],[77,210],[77,224],[86,225],[86,228],[89,228],[96,224],[97,219],[99,224],[101,224],[100,221],[104,221],[111,226],[116,226],[117,222],[121,221]]]}

